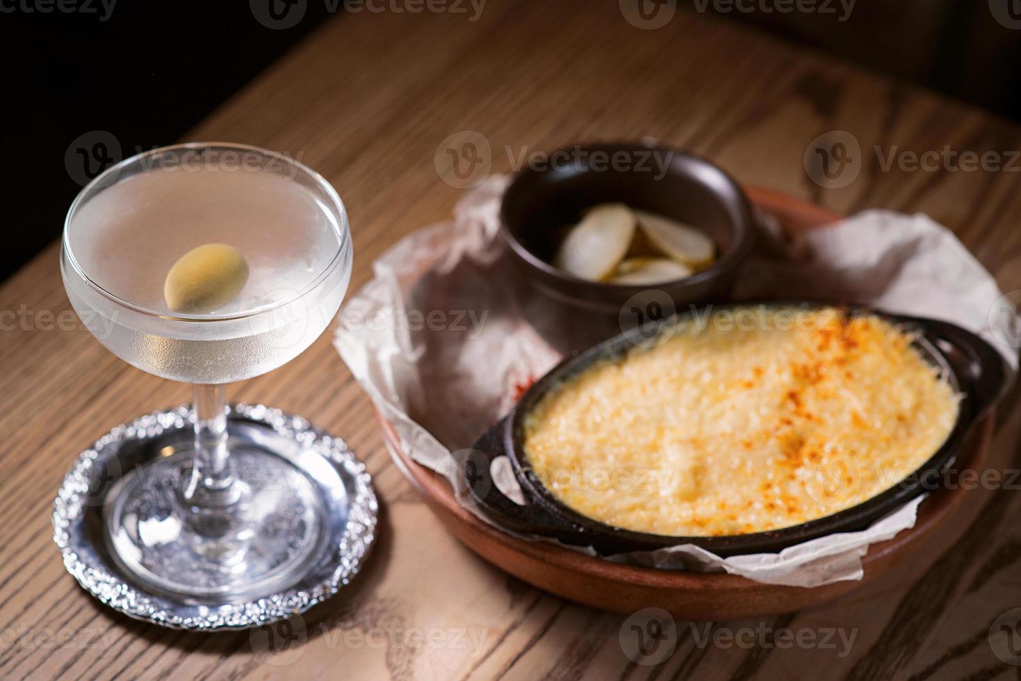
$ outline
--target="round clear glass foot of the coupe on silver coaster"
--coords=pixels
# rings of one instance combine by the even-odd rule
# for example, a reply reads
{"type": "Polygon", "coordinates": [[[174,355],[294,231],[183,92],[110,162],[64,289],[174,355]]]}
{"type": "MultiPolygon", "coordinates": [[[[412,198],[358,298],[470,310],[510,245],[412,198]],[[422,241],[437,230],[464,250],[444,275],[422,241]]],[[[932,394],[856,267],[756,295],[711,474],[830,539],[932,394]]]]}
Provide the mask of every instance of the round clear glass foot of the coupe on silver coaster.
{"type": "Polygon", "coordinates": [[[315,560],[315,487],[273,454],[234,449],[239,494],[223,507],[192,506],[181,490],[192,452],[136,469],[113,490],[105,528],[110,552],[143,585],[196,600],[236,600],[289,586],[315,560]]]}

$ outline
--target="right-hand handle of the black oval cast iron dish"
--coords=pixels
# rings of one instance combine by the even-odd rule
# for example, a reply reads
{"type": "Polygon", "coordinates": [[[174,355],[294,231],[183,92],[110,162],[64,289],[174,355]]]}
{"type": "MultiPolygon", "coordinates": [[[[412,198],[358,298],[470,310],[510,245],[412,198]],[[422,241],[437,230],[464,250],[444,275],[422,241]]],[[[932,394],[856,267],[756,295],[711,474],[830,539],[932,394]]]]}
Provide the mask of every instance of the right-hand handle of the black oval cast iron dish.
{"type": "Polygon", "coordinates": [[[961,389],[978,421],[1005,392],[1011,371],[1000,351],[976,334],[939,320],[918,320],[962,379],[961,389]]]}

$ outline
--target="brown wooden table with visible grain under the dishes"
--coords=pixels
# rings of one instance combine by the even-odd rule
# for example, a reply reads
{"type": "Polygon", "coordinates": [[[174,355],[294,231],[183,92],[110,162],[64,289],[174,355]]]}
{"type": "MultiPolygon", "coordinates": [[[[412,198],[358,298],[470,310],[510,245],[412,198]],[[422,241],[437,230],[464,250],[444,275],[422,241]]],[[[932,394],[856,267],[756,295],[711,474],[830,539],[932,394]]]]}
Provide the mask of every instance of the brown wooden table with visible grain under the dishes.
{"type": "MultiPolygon", "coordinates": [[[[629,23],[613,0],[490,0],[477,20],[471,14],[333,17],[186,139],[279,149],[323,173],[350,211],[352,290],[394,240],[448,216],[460,192],[441,182],[434,153],[465,130],[487,138],[493,172],[509,171],[526,149],[652,136],[714,159],[741,182],[839,211],[925,211],[958,233],[1003,290],[1021,289],[1019,176],[887,171],[873,152],[880,145],[885,158],[895,148],[950,145],[1006,154],[1021,149],[1021,130],[1012,125],[694,12],[678,11],[657,30],[629,23]],[[826,190],[809,179],[803,155],[832,130],[853,133],[865,162],[849,185],[826,190]]],[[[658,667],[636,665],[619,643],[623,617],[508,578],[443,531],[391,464],[370,402],[328,336],[287,367],[237,386],[233,397],[302,414],[366,459],[384,505],[366,572],[309,613],[305,634],[279,654],[260,647],[264,632],[196,635],[129,620],[64,572],[51,539],[53,495],[72,457],[96,437],[189,395],[128,367],[87,331],[67,329],[68,309],[56,244],[0,288],[0,677],[1018,673],[993,655],[987,638],[1001,613],[1021,605],[1016,491],[977,490],[960,527],[947,528],[947,542],[952,532],[961,538],[920,553],[881,589],[813,612],[717,625],[731,633],[842,628],[855,632],[844,656],[839,644],[783,649],[768,638],[750,648],[699,646],[702,630],[678,623],[674,654],[658,667]],[[417,645],[416,628],[432,642],[417,645]]],[[[1018,414],[1012,395],[1001,409],[999,466],[1017,466],[1018,414]]]]}

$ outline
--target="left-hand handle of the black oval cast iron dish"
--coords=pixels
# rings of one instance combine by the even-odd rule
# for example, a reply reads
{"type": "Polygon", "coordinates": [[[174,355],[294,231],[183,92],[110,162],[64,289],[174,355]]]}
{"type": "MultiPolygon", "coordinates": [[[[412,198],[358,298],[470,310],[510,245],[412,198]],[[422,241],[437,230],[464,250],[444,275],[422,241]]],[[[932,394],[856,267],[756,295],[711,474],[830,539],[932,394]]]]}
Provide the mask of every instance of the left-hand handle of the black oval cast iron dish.
{"type": "Polygon", "coordinates": [[[472,449],[461,454],[457,463],[472,499],[487,516],[508,530],[554,537],[571,543],[584,540],[583,536],[579,536],[582,534],[581,528],[547,509],[541,502],[529,499],[528,490],[524,486],[522,493],[525,495],[525,505],[509,499],[496,486],[491,467],[495,458],[507,453],[505,434],[509,420],[508,416],[486,431],[472,449]]]}

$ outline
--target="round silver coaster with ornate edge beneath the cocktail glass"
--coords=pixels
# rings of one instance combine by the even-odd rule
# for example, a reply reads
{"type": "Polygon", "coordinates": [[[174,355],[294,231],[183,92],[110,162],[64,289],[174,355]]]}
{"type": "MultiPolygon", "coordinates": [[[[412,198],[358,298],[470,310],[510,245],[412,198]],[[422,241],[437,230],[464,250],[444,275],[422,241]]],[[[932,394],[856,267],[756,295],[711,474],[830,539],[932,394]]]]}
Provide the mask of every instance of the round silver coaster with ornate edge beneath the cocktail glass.
{"type": "Polygon", "coordinates": [[[184,405],[117,426],[83,451],[64,477],[53,503],[53,540],[67,572],[83,588],[138,620],[174,629],[221,631],[303,613],[351,581],[376,536],[378,504],[364,465],[340,438],[280,409],[236,404],[228,422],[232,447],[283,459],[280,464],[292,467],[324,500],[326,517],[314,535],[321,546],[300,574],[289,584],[268,581],[264,592],[256,586],[243,599],[221,602],[214,593],[191,598],[153,588],[116,556],[116,540],[104,520],[113,505],[108,501],[111,492],[133,484],[133,472],[142,466],[174,461],[174,452],[192,437],[191,410],[184,405]]]}

